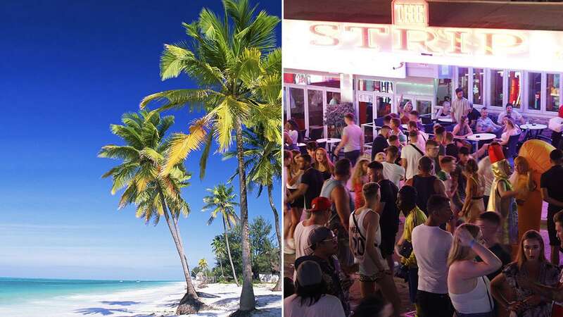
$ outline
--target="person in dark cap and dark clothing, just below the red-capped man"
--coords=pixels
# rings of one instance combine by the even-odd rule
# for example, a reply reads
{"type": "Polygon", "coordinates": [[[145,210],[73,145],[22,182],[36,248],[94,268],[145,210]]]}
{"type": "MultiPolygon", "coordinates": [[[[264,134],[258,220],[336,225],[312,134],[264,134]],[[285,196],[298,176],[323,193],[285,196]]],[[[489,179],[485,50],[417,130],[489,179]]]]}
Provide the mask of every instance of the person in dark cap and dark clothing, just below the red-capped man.
{"type": "Polygon", "coordinates": [[[334,232],[327,227],[315,228],[309,235],[308,249],[310,249],[311,255],[296,259],[296,269],[305,261],[317,262],[321,268],[323,280],[327,282],[327,294],[340,299],[344,312],[348,316],[350,305],[345,290],[348,290],[353,281],[343,273],[339,260],[336,258],[338,243],[334,232]]]}

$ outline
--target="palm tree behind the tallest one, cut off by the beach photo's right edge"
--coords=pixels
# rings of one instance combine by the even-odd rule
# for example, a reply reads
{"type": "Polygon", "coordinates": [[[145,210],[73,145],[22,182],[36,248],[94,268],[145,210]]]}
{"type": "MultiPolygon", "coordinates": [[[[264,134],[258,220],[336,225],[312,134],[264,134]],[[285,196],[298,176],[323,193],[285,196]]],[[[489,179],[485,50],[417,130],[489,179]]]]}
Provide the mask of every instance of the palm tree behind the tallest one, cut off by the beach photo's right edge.
{"type": "MultiPolygon", "coordinates": [[[[273,291],[281,290],[281,232],[279,232],[279,215],[277,213],[276,205],[274,204],[274,197],[272,196],[272,189],[274,187],[274,180],[281,178],[281,148],[279,144],[270,142],[265,137],[262,137],[260,132],[254,133],[252,130],[245,130],[243,132],[244,139],[244,166],[248,170],[248,188],[253,189],[253,185],[258,185],[257,197],[262,194],[263,187],[266,187],[268,193],[268,200],[272,213],[274,213],[274,221],[276,227],[276,236],[279,248],[279,279],[273,291]]],[[[234,157],[236,153],[228,152],[224,155],[224,159],[234,157]]],[[[236,171],[235,175],[239,173],[236,171]]],[[[233,175],[234,177],[234,175],[233,175]]]]}

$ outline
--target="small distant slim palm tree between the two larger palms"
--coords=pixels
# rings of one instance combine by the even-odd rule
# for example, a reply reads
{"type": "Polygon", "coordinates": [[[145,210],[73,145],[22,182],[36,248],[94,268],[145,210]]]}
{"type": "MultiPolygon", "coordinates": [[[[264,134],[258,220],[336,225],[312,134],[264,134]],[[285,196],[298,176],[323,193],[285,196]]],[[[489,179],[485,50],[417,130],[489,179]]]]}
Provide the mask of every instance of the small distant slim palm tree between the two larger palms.
{"type": "Polygon", "coordinates": [[[213,220],[217,218],[218,214],[221,214],[221,218],[223,220],[224,242],[227,244],[227,254],[229,254],[229,261],[231,262],[234,282],[236,283],[236,286],[239,286],[239,280],[236,279],[236,273],[234,271],[231,248],[229,247],[229,237],[227,236],[227,230],[231,230],[232,227],[239,222],[239,216],[237,216],[236,211],[234,211],[234,206],[239,205],[234,201],[236,194],[233,194],[232,186],[227,187],[227,185],[224,184],[219,184],[213,189],[208,188],[207,191],[211,194],[203,197],[203,204],[205,205],[201,211],[211,210],[211,216],[207,221],[208,225],[213,223],[213,220]]]}

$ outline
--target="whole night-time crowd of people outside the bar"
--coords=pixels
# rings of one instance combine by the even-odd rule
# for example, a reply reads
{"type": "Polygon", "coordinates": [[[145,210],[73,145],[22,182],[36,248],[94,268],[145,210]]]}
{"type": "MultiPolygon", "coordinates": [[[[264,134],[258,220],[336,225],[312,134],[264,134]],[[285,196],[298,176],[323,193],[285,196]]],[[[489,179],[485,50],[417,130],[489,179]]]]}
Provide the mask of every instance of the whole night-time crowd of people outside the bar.
{"type": "Polygon", "coordinates": [[[339,144],[334,162],[314,141],[306,153],[284,151],[284,252],[296,259],[284,280],[285,316],[400,316],[394,277],[407,283],[417,316],[563,316],[563,151],[550,152],[538,184],[524,156],[505,157],[514,112],[497,125],[483,108],[471,128],[475,109],[458,92],[439,113],[456,118],[453,132],[437,124],[428,135],[410,107],[407,119],[384,118],[371,155],[356,150],[350,113],[352,144],[339,144]],[[463,137],[473,129],[498,139],[472,149],[463,137]]]}

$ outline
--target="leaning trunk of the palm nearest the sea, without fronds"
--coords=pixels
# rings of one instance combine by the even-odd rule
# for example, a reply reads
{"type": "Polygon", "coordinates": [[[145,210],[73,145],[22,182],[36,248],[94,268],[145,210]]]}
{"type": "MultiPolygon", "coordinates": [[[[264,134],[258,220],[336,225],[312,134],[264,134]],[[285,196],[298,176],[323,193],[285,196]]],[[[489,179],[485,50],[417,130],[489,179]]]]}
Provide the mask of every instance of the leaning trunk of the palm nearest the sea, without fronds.
{"type": "Polygon", "coordinates": [[[174,217],[170,219],[170,215],[166,207],[166,199],[164,198],[164,194],[162,189],[160,189],[160,186],[158,186],[158,194],[160,196],[160,203],[163,205],[164,218],[166,219],[168,229],[170,229],[170,234],[172,234],[172,240],[174,240],[174,243],[176,244],[180,262],[182,262],[182,268],[184,269],[184,278],[186,278],[186,294],[184,295],[184,297],[182,297],[182,300],[180,300],[176,313],[197,313],[203,306],[203,303],[199,301],[196,289],[191,283],[191,276],[189,274],[188,261],[186,259],[186,255],[184,254],[184,248],[182,247],[182,242],[180,242],[179,240],[178,230],[176,228],[174,217]]]}

